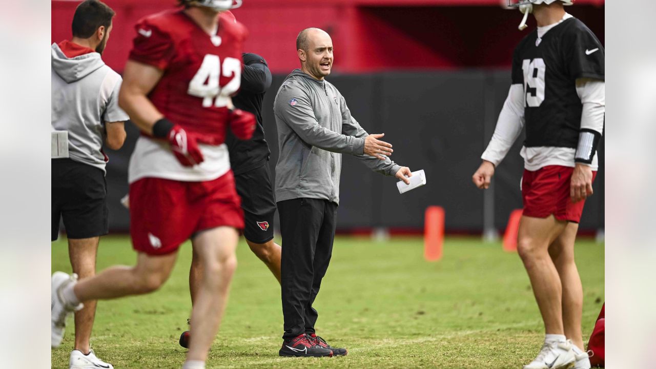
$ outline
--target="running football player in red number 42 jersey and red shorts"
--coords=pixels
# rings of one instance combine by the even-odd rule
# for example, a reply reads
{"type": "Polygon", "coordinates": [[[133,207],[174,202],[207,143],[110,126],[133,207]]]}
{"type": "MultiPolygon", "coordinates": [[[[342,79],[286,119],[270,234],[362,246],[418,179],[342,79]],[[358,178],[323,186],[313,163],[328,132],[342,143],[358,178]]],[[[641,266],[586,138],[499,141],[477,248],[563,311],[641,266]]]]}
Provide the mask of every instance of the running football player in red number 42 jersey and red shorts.
{"type": "Polygon", "coordinates": [[[240,4],[180,0],[184,9],[147,16],[136,25],[119,104],[142,131],[129,165],[137,264],[111,267],[80,282],[53,274],[53,331],[63,331],[66,316],[84,301],[157,290],[173,269],[178,247],[191,239],[203,274],[183,368],[205,368],[243,229],[226,129],[239,139],[255,130],[255,116],[230,100],[239,89],[246,30],[223,11],[240,4]]]}

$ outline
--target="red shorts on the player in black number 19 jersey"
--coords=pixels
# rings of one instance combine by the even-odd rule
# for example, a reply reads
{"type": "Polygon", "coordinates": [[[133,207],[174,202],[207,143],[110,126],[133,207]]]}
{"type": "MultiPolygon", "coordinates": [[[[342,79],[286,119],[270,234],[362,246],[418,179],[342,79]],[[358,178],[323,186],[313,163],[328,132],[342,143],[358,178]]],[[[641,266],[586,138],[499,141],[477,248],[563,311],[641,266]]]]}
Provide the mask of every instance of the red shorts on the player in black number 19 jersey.
{"type": "MultiPolygon", "coordinates": [[[[537,171],[524,170],[522,177],[523,215],[579,223],[585,201],[571,202],[569,196],[573,167],[547,165],[537,171]]],[[[592,182],[597,172],[592,172],[592,182]]]]}

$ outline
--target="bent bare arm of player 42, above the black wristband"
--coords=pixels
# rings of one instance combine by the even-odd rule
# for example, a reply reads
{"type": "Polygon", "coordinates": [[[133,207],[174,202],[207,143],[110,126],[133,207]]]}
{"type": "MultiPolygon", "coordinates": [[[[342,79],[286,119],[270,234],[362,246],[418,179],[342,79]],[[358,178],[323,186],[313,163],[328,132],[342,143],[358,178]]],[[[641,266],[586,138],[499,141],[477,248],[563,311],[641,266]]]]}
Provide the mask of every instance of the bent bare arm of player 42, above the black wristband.
{"type": "Polygon", "coordinates": [[[148,93],[163,74],[163,70],[134,60],[128,60],[123,71],[119,106],[141,131],[149,135],[153,133],[155,122],[164,117],[148,99],[148,93]]]}

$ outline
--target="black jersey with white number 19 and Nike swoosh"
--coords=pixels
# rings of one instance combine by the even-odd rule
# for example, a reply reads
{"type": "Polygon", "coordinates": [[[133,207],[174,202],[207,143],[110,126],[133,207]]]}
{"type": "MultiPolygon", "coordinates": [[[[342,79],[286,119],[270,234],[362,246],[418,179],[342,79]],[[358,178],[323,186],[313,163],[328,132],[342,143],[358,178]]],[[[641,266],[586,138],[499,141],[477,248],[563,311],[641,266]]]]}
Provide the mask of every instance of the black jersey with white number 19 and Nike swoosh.
{"type": "Polygon", "coordinates": [[[524,87],[524,146],[576,148],[583,105],[576,80],[604,80],[604,46],[577,18],[538,39],[537,30],[516,47],[512,83],[524,87]]]}

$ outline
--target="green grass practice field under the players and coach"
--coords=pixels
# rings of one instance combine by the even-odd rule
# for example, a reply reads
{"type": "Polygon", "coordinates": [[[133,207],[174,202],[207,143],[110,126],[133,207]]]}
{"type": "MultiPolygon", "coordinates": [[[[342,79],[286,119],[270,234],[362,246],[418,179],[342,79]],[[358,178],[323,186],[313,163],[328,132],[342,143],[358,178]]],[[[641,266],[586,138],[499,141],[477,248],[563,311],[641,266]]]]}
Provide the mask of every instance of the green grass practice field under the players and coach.
{"type": "MultiPolygon", "coordinates": [[[[443,259],[428,263],[421,238],[338,237],[315,307],[318,334],[346,357],[281,358],[280,290],[268,269],[239,244],[239,267],[207,368],[521,368],[537,355],[543,325],[518,255],[479,238],[447,238],[443,259]]],[[[577,242],[587,340],[604,301],[604,245],[577,242]]],[[[98,270],[132,265],[129,238],[101,240],[98,270]]],[[[115,368],[174,368],[190,315],[191,246],[180,249],[158,292],[98,303],[92,346],[115,368]]],[[[52,271],[70,272],[65,240],[52,244],[52,271]]],[[[73,321],[52,350],[68,368],[73,321]]]]}

